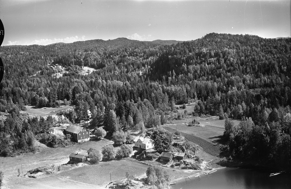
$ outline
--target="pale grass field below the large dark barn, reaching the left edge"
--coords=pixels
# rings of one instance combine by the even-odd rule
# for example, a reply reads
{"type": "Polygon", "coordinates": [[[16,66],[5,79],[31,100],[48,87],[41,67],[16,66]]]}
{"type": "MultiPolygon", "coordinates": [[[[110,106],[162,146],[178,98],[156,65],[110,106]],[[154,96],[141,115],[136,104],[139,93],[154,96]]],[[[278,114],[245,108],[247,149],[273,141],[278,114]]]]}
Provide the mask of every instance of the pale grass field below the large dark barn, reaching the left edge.
{"type": "MultiPolygon", "coordinates": [[[[89,148],[101,150],[105,145],[113,144],[110,141],[87,141],[85,143],[79,143],[74,146],[68,146],[65,148],[40,148],[40,151],[36,154],[26,154],[17,157],[0,157],[1,171],[4,172],[5,186],[14,185],[17,182],[27,181],[30,178],[17,177],[17,169],[23,173],[27,171],[44,166],[44,165],[60,165],[69,161],[69,155],[74,152],[85,153],[89,148]]],[[[43,146],[43,145],[40,145],[43,146]]]]}

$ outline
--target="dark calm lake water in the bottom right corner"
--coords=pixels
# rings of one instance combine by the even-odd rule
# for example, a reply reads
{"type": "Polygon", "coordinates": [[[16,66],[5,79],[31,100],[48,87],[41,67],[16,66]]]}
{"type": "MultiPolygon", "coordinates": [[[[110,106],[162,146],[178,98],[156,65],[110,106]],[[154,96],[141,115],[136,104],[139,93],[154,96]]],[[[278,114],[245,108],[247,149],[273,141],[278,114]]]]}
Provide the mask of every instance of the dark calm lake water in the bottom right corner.
{"type": "Polygon", "coordinates": [[[208,175],[186,177],[171,185],[171,189],[233,189],[233,188],[291,188],[290,173],[281,173],[270,177],[274,172],[259,172],[252,169],[221,168],[208,175]]]}

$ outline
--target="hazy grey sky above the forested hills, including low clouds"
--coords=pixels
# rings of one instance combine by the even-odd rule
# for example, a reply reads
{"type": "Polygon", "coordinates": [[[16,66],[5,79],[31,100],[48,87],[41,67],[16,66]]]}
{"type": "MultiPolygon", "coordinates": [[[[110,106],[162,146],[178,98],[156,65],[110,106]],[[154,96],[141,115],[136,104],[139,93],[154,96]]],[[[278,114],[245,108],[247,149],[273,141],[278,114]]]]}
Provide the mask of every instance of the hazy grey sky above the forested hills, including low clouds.
{"type": "Polygon", "coordinates": [[[1,0],[3,45],[126,37],[195,40],[208,33],[291,37],[290,0],[1,0]]]}

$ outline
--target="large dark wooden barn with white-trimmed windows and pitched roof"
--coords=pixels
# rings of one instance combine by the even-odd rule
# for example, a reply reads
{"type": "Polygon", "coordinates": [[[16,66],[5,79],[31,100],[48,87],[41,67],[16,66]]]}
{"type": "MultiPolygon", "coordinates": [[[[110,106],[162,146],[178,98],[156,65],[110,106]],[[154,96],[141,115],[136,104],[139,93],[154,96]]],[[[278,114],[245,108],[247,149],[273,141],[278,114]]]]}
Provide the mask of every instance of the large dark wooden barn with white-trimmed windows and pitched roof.
{"type": "Polygon", "coordinates": [[[69,125],[65,131],[66,134],[70,134],[74,137],[76,142],[85,142],[90,140],[90,132],[84,127],[69,125]]]}

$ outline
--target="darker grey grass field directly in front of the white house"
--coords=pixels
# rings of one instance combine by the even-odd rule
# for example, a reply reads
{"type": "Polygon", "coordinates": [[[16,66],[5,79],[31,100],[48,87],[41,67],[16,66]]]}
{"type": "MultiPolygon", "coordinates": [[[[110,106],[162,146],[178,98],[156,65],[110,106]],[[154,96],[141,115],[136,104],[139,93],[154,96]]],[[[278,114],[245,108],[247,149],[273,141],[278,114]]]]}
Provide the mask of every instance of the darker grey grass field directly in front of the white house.
{"type": "Polygon", "coordinates": [[[147,165],[133,161],[113,160],[102,161],[99,164],[87,165],[60,172],[56,176],[63,179],[69,178],[88,184],[106,186],[110,182],[110,172],[112,181],[125,178],[125,173],[138,177],[143,175],[148,168],[147,165]]]}

